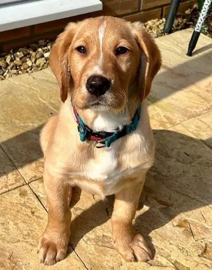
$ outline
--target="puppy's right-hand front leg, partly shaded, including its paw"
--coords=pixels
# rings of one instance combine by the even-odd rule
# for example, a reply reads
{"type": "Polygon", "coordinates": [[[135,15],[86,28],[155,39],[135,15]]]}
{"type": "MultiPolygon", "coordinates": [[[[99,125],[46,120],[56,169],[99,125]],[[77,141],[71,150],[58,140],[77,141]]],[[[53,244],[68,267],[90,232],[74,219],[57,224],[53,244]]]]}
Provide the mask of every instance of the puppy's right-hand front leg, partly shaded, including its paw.
{"type": "Polygon", "coordinates": [[[112,239],[115,248],[126,261],[148,261],[151,251],[144,238],[134,230],[132,221],[135,217],[139,198],[145,181],[145,173],[137,184],[123,188],[115,194],[112,213],[112,239]]]}

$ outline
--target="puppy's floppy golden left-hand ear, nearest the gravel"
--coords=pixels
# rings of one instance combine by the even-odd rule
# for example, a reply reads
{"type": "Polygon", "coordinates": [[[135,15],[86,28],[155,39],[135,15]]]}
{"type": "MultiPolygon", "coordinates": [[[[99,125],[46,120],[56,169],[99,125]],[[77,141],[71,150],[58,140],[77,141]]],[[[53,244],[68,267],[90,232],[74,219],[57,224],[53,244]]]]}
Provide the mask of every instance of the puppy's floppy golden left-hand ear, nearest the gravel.
{"type": "Polygon", "coordinates": [[[68,96],[68,88],[71,84],[71,71],[68,65],[68,50],[75,34],[76,23],[70,23],[58,36],[50,53],[49,65],[60,85],[60,97],[63,102],[68,96]]]}

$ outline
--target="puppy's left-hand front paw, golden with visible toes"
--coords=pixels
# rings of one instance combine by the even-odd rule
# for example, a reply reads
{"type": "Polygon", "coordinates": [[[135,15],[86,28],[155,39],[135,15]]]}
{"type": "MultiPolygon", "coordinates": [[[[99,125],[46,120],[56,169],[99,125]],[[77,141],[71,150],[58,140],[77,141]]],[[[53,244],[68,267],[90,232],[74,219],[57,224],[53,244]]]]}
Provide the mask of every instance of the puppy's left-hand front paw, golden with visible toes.
{"type": "Polygon", "coordinates": [[[40,263],[54,265],[63,260],[67,254],[68,241],[62,240],[61,235],[44,233],[39,239],[37,253],[40,263]]]}

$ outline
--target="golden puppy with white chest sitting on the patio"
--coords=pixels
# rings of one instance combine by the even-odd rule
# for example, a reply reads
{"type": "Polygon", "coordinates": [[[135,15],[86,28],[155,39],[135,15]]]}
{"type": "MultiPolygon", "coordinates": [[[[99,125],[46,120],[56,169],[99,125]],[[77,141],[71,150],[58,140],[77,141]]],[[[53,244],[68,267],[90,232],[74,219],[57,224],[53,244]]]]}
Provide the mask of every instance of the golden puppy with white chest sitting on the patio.
{"type": "Polygon", "coordinates": [[[70,23],[58,36],[50,66],[63,104],[40,136],[48,204],[40,261],[52,265],[66,256],[74,186],[103,200],[115,194],[116,250],[127,261],[150,260],[132,221],[154,160],[145,98],[161,66],[158,47],[139,22],[91,18],[70,23]]]}

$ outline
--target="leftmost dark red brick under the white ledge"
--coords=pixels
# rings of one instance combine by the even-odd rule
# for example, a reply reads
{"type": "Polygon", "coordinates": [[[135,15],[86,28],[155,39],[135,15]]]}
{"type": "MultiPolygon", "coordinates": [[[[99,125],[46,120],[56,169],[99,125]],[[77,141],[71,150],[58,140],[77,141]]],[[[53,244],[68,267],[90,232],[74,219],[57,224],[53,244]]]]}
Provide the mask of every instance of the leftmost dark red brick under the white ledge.
{"type": "Polygon", "coordinates": [[[29,26],[0,32],[0,42],[27,36],[30,36],[29,26]]]}

